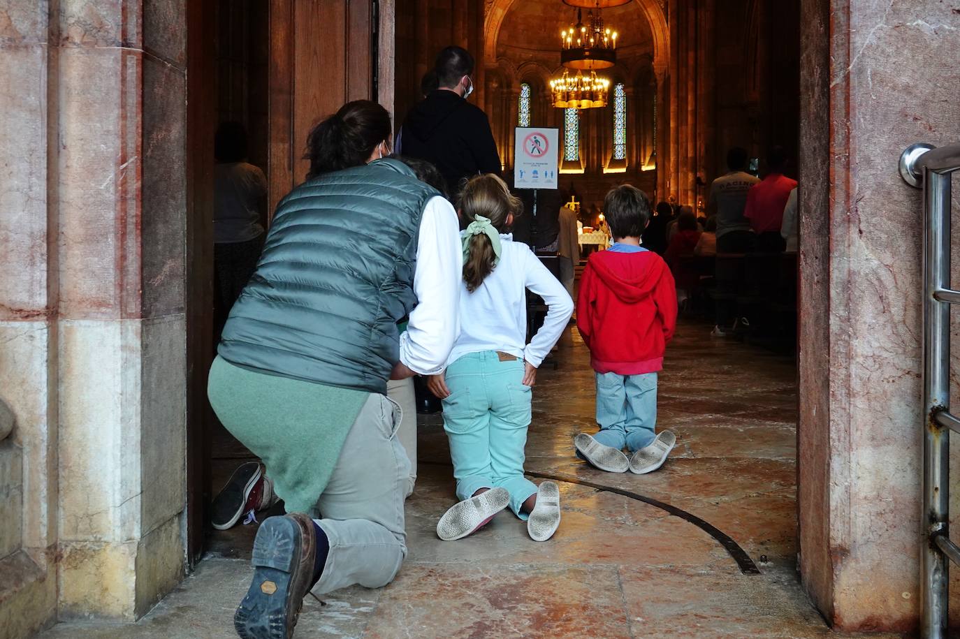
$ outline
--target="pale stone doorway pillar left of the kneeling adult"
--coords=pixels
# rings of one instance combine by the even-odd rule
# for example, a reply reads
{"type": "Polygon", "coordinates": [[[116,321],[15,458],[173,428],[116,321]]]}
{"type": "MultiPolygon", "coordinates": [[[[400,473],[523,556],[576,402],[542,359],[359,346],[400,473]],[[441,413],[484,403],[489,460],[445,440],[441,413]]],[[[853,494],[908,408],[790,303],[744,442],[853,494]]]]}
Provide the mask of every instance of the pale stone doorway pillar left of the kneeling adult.
{"type": "Polygon", "coordinates": [[[133,617],[182,575],[185,25],[183,0],[0,17],[0,400],[24,500],[0,607],[27,632],[133,617]]]}

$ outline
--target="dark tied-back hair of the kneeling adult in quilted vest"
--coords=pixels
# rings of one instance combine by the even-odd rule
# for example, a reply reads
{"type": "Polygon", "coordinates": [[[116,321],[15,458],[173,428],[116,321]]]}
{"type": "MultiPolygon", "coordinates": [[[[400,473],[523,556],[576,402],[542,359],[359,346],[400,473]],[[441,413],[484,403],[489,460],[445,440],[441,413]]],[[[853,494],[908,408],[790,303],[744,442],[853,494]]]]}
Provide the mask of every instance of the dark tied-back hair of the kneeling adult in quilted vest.
{"type": "Polygon", "coordinates": [[[313,128],[306,138],[307,179],[366,164],[390,139],[390,113],[371,100],[354,100],[313,128]]]}

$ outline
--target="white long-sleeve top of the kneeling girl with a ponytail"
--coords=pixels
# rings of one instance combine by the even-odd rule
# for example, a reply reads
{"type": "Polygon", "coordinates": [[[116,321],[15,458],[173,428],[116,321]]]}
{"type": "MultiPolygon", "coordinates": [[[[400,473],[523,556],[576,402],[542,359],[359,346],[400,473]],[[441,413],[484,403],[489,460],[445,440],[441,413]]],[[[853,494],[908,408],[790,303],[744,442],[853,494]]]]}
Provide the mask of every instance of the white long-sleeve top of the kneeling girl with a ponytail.
{"type": "Polygon", "coordinates": [[[447,366],[468,353],[498,350],[540,367],[573,314],[573,300],[564,285],[547,271],[533,251],[514,242],[511,235],[500,238],[500,261],[477,290],[469,293],[461,278],[460,337],[447,366]],[[527,289],[542,297],[548,308],[543,325],[529,344],[527,289]]]}

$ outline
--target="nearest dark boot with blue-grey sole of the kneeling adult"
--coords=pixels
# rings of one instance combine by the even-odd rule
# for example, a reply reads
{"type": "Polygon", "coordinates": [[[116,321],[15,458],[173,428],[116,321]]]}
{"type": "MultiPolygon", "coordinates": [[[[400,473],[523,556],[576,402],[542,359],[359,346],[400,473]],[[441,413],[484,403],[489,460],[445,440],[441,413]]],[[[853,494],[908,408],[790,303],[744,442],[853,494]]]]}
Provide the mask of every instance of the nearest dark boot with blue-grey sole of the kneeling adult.
{"type": "Polygon", "coordinates": [[[317,554],[313,522],[304,514],[269,517],[253,541],[253,580],[233,615],[241,639],[290,639],[317,554]]]}

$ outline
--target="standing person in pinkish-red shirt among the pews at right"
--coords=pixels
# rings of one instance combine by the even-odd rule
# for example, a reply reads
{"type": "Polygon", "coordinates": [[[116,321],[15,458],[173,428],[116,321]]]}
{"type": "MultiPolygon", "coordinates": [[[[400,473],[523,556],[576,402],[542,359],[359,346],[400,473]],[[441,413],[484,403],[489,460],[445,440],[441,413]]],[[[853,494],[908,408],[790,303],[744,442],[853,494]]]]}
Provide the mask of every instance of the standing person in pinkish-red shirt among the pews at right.
{"type": "Polygon", "coordinates": [[[747,193],[747,208],[743,217],[750,220],[756,233],[756,249],[759,252],[781,253],[786,248],[780,235],[783,208],[790,198],[790,191],[797,188],[796,179],[783,175],[786,165],[787,155],[783,147],[772,147],[767,154],[770,173],[747,193]]]}

